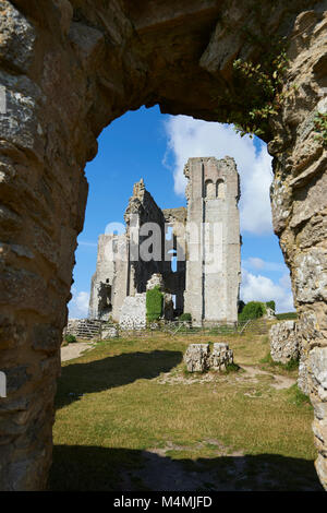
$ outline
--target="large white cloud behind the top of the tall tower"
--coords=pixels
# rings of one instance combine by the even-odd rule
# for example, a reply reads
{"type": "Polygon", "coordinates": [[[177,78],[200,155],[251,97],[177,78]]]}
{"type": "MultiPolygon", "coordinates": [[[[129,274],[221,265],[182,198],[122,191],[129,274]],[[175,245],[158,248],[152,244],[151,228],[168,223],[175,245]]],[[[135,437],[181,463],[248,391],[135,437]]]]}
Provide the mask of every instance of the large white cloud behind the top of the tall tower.
{"type": "MultiPolygon", "coordinates": [[[[170,117],[165,123],[168,148],[174,156],[174,190],[184,194],[183,168],[190,157],[215,156],[235,159],[241,176],[241,228],[252,234],[271,232],[269,187],[271,157],[265,144],[256,152],[254,140],[241,138],[232,127],[196,120],[187,116],[170,117]]],[[[167,162],[165,156],[164,164],[167,162]]]]}

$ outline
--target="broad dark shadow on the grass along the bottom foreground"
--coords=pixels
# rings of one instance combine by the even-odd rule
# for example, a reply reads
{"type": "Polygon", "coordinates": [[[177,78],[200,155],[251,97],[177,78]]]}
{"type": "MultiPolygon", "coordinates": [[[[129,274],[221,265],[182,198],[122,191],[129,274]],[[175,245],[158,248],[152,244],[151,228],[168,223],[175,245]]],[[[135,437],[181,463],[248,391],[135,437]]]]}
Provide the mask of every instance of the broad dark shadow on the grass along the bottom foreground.
{"type": "Polygon", "coordinates": [[[276,454],[172,460],[154,452],[55,445],[49,489],[323,491],[312,461],[276,454]]]}

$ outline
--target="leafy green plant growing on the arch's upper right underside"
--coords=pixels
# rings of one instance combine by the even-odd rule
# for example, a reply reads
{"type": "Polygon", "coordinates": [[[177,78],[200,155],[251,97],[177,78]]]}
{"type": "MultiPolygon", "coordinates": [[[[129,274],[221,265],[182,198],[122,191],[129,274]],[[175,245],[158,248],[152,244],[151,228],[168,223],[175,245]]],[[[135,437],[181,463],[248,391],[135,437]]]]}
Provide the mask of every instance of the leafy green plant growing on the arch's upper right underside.
{"type": "MultiPolygon", "coordinates": [[[[264,20],[259,21],[259,25],[264,26],[264,20]]],[[[261,55],[253,57],[253,60],[234,59],[232,84],[222,87],[214,98],[219,105],[216,111],[227,123],[233,124],[241,136],[257,135],[269,141],[272,136],[271,119],[279,115],[286,96],[293,94],[293,90],[283,91],[289,67],[288,41],[278,35],[267,38],[265,31],[254,34],[246,26],[243,33],[244,45],[253,45],[261,55]]]]}

